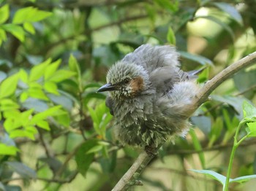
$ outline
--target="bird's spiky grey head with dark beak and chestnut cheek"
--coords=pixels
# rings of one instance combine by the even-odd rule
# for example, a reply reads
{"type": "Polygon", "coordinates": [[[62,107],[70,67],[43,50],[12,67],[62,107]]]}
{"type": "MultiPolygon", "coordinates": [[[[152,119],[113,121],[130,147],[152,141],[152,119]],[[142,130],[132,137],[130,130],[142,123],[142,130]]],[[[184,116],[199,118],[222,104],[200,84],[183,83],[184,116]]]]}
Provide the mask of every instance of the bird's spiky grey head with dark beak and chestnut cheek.
{"type": "Polygon", "coordinates": [[[97,92],[110,91],[113,98],[134,98],[148,88],[148,73],[142,66],[135,63],[119,61],[113,65],[107,74],[107,84],[97,92]]]}

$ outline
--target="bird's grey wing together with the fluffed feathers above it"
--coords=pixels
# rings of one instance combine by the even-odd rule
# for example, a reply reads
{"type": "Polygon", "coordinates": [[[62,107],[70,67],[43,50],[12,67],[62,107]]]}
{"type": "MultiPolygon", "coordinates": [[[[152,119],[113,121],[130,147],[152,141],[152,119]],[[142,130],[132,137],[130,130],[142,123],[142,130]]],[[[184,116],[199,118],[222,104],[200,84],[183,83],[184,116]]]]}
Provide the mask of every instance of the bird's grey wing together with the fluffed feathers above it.
{"type": "Polygon", "coordinates": [[[179,69],[175,47],[143,44],[126,55],[122,61],[143,66],[148,71],[151,84],[159,93],[168,92],[174,83],[187,78],[187,73],[179,69]]]}

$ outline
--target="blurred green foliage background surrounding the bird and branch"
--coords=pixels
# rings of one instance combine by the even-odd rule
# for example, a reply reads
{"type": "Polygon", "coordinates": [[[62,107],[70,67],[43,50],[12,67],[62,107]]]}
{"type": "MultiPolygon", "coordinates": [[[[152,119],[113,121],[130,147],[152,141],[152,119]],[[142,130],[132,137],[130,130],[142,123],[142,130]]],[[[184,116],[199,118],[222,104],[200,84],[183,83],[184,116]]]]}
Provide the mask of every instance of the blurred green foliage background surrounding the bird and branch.
{"type": "MultiPolygon", "coordinates": [[[[141,149],[115,139],[105,94],[95,93],[109,67],[141,44],[170,44],[185,71],[207,66],[198,79],[203,85],[256,50],[255,10],[255,0],[1,0],[0,82],[20,74],[8,95],[17,108],[12,117],[18,111],[23,120],[57,105],[63,115],[45,114],[32,135],[24,124],[15,134],[0,107],[0,149],[13,151],[0,152],[0,190],[111,190],[141,149]],[[55,63],[59,68],[50,73],[55,63]],[[54,85],[41,84],[48,73],[54,85]],[[25,87],[32,74],[37,85],[25,87]]],[[[217,87],[191,118],[187,137],[165,144],[140,177],[143,187],[133,189],[222,190],[189,169],[226,174],[242,103],[256,104],[255,90],[255,66],[217,87]]],[[[238,147],[232,178],[256,174],[255,146],[252,137],[238,147]]],[[[230,184],[230,190],[255,190],[255,184],[230,184]]]]}

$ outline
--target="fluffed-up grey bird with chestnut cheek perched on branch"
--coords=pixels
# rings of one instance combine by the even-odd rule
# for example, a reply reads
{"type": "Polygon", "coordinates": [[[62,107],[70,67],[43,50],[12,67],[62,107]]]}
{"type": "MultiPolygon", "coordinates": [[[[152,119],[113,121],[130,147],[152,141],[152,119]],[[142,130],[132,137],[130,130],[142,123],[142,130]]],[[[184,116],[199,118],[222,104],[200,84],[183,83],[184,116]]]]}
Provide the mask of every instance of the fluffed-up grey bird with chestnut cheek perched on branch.
{"type": "Polygon", "coordinates": [[[187,133],[197,71],[179,67],[175,47],[143,44],[110,68],[97,92],[110,91],[106,105],[123,144],[158,147],[187,133]]]}

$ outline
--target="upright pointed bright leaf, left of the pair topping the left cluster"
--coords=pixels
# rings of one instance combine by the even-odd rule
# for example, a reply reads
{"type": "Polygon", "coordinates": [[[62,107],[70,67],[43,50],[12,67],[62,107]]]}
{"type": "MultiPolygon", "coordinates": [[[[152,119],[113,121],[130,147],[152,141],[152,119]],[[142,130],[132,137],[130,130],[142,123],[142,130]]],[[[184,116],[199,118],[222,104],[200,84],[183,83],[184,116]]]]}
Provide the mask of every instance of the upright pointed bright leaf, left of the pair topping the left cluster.
{"type": "Polygon", "coordinates": [[[51,59],[49,58],[47,61],[43,63],[39,63],[37,66],[34,66],[29,74],[29,82],[36,81],[43,74],[45,74],[45,70],[47,69],[48,65],[50,64],[51,59]]]}

